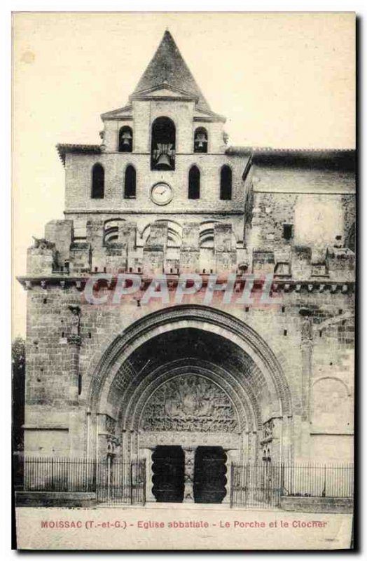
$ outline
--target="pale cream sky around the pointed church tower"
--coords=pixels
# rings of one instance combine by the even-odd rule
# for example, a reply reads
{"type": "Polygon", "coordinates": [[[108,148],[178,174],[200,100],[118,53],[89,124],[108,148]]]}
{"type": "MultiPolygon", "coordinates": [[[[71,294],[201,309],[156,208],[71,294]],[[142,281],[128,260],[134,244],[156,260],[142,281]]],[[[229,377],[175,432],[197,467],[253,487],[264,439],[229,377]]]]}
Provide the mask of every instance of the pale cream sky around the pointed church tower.
{"type": "MultiPolygon", "coordinates": [[[[165,29],[229,144],[354,148],[352,13],[16,13],[13,18],[13,273],[32,236],[62,219],[55,144],[99,144],[100,114],[123,107],[165,29]]],[[[25,334],[15,280],[13,334],[25,334]]]]}

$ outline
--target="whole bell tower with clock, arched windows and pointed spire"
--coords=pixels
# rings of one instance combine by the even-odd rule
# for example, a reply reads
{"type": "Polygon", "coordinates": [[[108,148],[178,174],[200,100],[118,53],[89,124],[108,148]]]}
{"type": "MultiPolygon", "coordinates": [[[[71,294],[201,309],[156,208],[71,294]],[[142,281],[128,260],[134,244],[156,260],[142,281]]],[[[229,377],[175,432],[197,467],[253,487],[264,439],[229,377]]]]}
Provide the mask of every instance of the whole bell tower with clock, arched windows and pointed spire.
{"type": "Polygon", "coordinates": [[[65,215],[92,248],[85,262],[95,272],[235,272],[246,257],[250,153],[229,153],[226,119],[212,111],[168,30],[127,104],[101,117],[99,145],[57,146],[65,215]]]}

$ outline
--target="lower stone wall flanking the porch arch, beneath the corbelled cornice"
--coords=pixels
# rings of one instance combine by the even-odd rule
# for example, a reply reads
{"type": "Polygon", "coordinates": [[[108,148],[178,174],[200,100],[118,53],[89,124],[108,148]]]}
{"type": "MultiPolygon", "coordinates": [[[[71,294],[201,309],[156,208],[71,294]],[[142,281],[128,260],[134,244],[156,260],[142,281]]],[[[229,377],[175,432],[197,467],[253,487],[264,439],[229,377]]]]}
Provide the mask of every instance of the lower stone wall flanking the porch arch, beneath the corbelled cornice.
{"type": "MultiPolygon", "coordinates": [[[[190,297],[189,302],[201,304],[202,298],[201,292],[190,297]]],[[[349,399],[352,399],[353,304],[353,295],[343,293],[341,288],[338,288],[335,293],[331,293],[330,290],[309,292],[307,285],[298,292],[294,286],[289,292],[282,291],[279,294],[279,304],[272,306],[233,304],[228,309],[228,306],[221,304],[221,298],[213,304],[218,309],[230,311],[234,318],[239,318],[254,329],[272,349],[282,365],[291,392],[292,453],[293,457],[300,461],[312,458],[316,450],[314,440],[321,438],[314,435],[317,431],[317,434],[320,432],[319,428],[317,431],[314,428],[312,417],[313,402],[318,399],[314,397],[314,389],[312,389],[317,388],[317,384],[313,385],[314,382],[321,378],[332,377],[342,388],[345,386],[349,388],[349,399]],[[311,314],[309,335],[304,328],[305,318],[300,314],[300,311],[305,308],[311,314]],[[326,321],[330,321],[330,325],[325,324],[326,321]],[[338,323],[341,330],[334,326],[334,321],[338,323]],[[343,321],[345,321],[344,325],[342,325],[343,321]],[[324,342],[324,347],[321,346],[321,341],[324,342]],[[307,358],[309,352],[307,363],[304,353],[307,358]]],[[[26,448],[29,451],[48,455],[55,449],[55,443],[60,441],[56,435],[63,434],[68,435],[67,440],[64,440],[65,448],[55,449],[55,453],[85,454],[86,432],[90,430],[92,433],[92,430],[95,430],[92,424],[89,429],[87,428],[88,392],[95,365],[118,334],[123,333],[134,321],[161,308],[159,299],[149,306],[144,306],[139,305],[133,298],[125,300],[120,305],[92,306],[83,303],[76,282],[66,283],[62,288],[54,281],[46,285],[46,288],[34,285],[29,290],[25,418],[26,448]],[[74,323],[69,306],[73,305],[81,307],[79,379],[75,376],[76,350],[71,338],[74,323]],[[34,436],[35,427],[38,429],[43,427],[42,439],[34,436]],[[46,436],[47,434],[49,437],[46,436]],[[47,438],[48,442],[46,442],[47,438]]],[[[327,388],[326,393],[321,393],[321,396],[323,395],[327,403],[330,399],[327,388]]],[[[335,399],[339,399],[339,394],[335,399]]],[[[111,414],[113,416],[114,413],[111,411],[111,414]]],[[[272,417],[272,410],[267,409],[264,404],[263,418],[265,420],[270,417],[272,417]]],[[[352,425],[349,428],[344,425],[340,428],[339,422],[340,419],[336,417],[333,423],[328,424],[327,430],[323,428],[321,431],[323,434],[327,433],[327,438],[332,442],[334,449],[338,442],[349,438],[348,435],[352,434],[352,425]]],[[[351,461],[352,449],[346,448],[342,459],[351,461]]]]}

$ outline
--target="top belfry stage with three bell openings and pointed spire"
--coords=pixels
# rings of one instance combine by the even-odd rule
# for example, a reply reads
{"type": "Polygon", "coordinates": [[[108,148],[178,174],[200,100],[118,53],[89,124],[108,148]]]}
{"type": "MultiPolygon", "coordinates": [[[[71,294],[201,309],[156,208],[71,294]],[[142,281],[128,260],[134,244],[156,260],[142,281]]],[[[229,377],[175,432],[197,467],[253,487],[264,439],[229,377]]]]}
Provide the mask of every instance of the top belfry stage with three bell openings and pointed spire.
{"type": "Polygon", "coordinates": [[[176,154],[223,154],[226,148],[226,119],[210,108],[168,30],[129,103],[102,119],[104,149],[150,152],[151,170],[174,170],[176,154]]]}

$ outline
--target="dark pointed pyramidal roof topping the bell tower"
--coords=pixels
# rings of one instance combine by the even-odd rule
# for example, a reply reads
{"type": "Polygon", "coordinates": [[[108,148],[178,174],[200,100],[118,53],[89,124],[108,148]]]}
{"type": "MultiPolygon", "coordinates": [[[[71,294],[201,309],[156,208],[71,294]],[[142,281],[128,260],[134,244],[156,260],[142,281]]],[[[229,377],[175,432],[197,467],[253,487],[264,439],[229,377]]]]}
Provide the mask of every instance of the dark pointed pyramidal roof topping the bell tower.
{"type": "Polygon", "coordinates": [[[134,89],[132,97],[140,92],[157,88],[160,85],[168,85],[176,90],[181,90],[198,97],[198,109],[212,113],[212,109],[210,109],[207,100],[202,95],[193,74],[188,69],[168,29],[166,29],[162,41],[160,41],[158,49],[155,51],[155,55],[134,89]]]}

